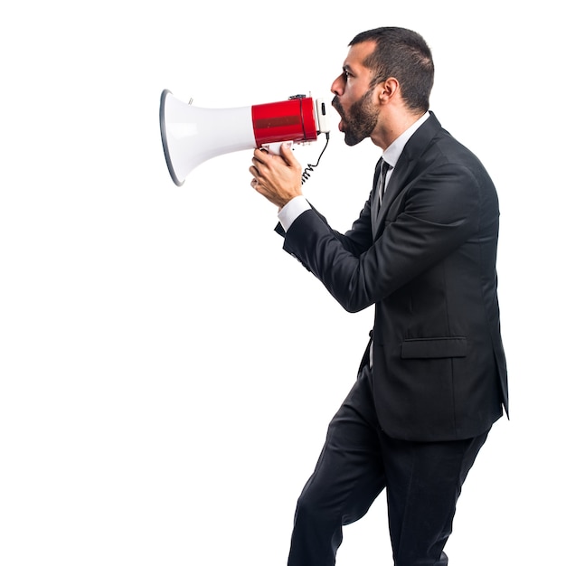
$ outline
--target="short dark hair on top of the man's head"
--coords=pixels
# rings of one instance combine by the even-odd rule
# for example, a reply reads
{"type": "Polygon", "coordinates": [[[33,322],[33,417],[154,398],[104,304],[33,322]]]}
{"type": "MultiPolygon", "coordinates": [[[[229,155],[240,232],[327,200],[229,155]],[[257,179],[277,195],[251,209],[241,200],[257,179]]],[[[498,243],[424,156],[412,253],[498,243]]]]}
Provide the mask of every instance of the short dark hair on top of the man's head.
{"type": "Polygon", "coordinates": [[[419,33],[402,27],[378,27],[358,33],[349,45],[373,41],[375,50],[363,64],[373,71],[372,86],[389,77],[399,80],[401,96],[413,110],[429,109],[434,63],[419,33]]]}

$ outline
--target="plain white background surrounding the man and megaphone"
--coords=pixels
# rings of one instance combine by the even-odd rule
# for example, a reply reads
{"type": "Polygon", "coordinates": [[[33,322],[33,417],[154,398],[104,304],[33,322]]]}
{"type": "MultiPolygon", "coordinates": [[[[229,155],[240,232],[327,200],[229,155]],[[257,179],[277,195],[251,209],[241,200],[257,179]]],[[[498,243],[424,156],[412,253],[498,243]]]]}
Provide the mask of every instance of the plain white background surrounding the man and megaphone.
{"type": "MultiPolygon", "coordinates": [[[[379,25],[427,39],[431,109],[500,196],[512,418],[468,477],[450,563],[563,563],[556,3],[53,0],[0,15],[0,563],[286,563],[372,309],[346,314],[281,250],[250,152],[176,187],[159,97],[330,99],[347,43],[379,25]]],[[[331,134],[305,193],[336,229],[379,155],[331,134]]],[[[344,529],[337,563],[392,563],[383,497],[344,529]]]]}

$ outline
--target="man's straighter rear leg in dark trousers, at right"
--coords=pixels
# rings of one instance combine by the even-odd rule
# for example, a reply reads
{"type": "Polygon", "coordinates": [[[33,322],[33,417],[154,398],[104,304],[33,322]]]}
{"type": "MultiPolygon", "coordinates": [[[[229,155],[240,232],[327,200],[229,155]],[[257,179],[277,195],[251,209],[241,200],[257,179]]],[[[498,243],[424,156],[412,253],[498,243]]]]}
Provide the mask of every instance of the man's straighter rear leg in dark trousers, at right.
{"type": "Polygon", "coordinates": [[[456,502],[487,432],[453,442],[380,438],[395,566],[445,566],[456,502]]]}

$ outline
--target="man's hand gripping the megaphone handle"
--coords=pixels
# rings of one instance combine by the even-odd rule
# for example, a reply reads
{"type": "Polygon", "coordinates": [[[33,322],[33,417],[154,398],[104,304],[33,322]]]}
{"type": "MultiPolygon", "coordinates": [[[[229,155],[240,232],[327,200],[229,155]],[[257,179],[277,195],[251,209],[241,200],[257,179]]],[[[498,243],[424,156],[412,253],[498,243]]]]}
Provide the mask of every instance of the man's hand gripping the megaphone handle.
{"type": "Polygon", "coordinates": [[[282,144],[280,152],[281,155],[276,156],[265,149],[256,149],[250,166],[251,186],[279,209],[302,194],[302,168],[290,144],[282,144]]]}

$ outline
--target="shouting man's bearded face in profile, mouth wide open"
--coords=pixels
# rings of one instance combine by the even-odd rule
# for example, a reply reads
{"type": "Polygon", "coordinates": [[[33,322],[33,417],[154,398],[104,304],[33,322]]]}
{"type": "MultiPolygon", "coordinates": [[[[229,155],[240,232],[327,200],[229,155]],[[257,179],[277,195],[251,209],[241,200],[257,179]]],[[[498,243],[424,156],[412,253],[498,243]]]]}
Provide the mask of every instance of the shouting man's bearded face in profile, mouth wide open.
{"type": "Polygon", "coordinates": [[[344,61],[343,72],[332,83],[335,93],[332,106],[340,114],[340,131],[348,146],[359,144],[370,137],[379,119],[379,108],[374,102],[374,88],[370,88],[372,71],[363,61],[375,48],[374,42],[356,43],[344,61]]]}

